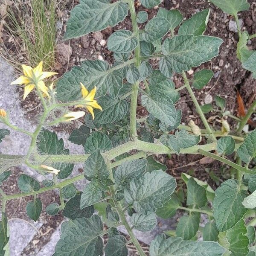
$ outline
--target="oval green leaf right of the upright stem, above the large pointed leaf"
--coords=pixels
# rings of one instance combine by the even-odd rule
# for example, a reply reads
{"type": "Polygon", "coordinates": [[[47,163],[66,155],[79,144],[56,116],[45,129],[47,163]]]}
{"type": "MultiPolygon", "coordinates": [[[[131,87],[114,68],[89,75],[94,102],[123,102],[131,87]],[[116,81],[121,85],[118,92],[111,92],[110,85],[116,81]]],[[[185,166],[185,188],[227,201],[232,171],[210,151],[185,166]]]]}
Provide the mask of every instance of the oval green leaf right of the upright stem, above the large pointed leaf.
{"type": "Polygon", "coordinates": [[[170,23],[164,17],[154,17],[146,24],[143,33],[141,34],[142,40],[153,43],[157,39],[162,38],[170,30],[170,23]]]}

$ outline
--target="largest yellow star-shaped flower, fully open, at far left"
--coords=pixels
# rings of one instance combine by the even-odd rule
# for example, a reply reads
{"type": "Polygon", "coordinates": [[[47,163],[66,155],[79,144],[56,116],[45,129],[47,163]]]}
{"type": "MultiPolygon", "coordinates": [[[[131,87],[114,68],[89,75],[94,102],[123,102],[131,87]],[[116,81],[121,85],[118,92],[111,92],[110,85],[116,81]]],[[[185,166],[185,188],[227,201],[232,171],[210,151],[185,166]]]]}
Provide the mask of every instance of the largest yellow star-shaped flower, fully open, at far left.
{"type": "Polygon", "coordinates": [[[20,76],[11,84],[25,84],[23,99],[35,88],[35,84],[38,85],[39,90],[45,93],[49,97],[48,88],[44,84],[44,79],[57,75],[55,72],[44,72],[43,61],[41,61],[34,69],[32,67],[22,65],[24,76],[20,76]]]}

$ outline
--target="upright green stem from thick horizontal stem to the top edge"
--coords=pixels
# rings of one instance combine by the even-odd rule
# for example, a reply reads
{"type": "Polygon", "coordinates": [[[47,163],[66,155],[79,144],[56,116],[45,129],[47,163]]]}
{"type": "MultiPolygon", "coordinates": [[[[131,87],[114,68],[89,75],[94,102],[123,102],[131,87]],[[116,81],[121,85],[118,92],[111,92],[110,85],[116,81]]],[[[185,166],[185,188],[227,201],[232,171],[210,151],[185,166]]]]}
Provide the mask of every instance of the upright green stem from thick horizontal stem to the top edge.
{"type": "MultiPolygon", "coordinates": [[[[137,24],[137,15],[134,6],[134,0],[129,0],[129,9],[131,13],[131,23],[133,27],[133,32],[135,37],[137,38],[138,45],[135,49],[135,66],[137,68],[140,67],[140,34],[139,28],[137,24]]],[[[137,98],[138,98],[138,88],[139,88],[139,81],[132,85],[132,93],[131,93],[131,109],[130,109],[130,137],[131,140],[137,140],[137,123],[136,123],[136,116],[137,116],[137,98]]]]}

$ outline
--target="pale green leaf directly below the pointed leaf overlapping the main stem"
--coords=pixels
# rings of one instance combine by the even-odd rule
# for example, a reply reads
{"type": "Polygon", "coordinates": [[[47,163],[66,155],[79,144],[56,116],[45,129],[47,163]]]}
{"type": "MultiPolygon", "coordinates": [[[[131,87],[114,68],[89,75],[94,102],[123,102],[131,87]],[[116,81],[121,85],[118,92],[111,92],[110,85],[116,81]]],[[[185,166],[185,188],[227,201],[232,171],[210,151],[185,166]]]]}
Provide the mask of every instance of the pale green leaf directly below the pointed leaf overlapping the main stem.
{"type": "Polygon", "coordinates": [[[84,187],[84,191],[81,195],[80,209],[91,206],[98,203],[104,198],[105,187],[99,182],[99,180],[93,179],[89,184],[84,187]]]}

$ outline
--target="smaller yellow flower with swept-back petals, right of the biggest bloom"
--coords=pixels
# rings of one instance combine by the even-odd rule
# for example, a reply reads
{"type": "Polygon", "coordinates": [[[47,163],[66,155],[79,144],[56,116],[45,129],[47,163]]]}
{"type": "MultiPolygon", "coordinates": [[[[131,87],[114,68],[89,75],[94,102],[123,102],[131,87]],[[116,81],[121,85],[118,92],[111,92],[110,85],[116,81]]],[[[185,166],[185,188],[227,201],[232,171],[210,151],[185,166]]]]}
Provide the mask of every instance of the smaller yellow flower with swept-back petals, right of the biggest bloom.
{"type": "Polygon", "coordinates": [[[81,84],[81,90],[82,90],[82,96],[83,96],[83,104],[77,105],[76,108],[87,108],[87,110],[91,113],[94,119],[94,113],[93,113],[93,108],[100,109],[102,111],[102,107],[97,103],[96,99],[94,99],[95,94],[96,94],[96,87],[93,88],[93,90],[88,92],[88,90],[84,87],[84,84],[81,84]]]}

